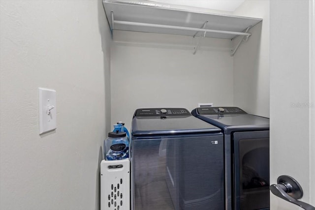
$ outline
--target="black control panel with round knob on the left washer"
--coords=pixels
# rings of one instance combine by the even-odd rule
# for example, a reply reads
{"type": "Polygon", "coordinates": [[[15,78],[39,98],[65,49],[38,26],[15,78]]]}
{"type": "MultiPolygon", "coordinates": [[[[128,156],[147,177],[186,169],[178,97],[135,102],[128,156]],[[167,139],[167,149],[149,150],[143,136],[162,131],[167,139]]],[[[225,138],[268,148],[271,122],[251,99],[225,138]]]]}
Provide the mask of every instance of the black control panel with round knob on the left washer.
{"type": "Polygon", "coordinates": [[[189,111],[185,108],[147,108],[137,109],[134,113],[135,117],[149,116],[189,116],[189,111]]]}

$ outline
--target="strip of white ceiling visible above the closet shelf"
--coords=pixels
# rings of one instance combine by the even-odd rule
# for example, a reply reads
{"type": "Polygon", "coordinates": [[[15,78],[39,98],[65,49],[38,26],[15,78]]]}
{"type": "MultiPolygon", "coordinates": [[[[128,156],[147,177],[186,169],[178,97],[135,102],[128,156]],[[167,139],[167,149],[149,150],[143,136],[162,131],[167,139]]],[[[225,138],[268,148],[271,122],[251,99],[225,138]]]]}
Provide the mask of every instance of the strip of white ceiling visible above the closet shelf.
{"type": "Polygon", "coordinates": [[[178,4],[233,12],[245,0],[152,0],[166,4],[178,4]]]}

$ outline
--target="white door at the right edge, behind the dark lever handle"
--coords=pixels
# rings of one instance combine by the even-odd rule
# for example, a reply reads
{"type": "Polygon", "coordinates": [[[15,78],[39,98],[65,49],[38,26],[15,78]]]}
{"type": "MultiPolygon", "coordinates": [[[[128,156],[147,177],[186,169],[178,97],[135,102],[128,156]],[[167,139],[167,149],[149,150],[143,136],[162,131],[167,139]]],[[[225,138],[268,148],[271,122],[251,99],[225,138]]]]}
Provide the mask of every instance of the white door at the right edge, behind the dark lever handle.
{"type": "MultiPolygon", "coordinates": [[[[297,180],[315,206],[315,0],[270,1],[270,182],[297,180]]],[[[270,195],[271,210],[299,210],[270,195]]]]}

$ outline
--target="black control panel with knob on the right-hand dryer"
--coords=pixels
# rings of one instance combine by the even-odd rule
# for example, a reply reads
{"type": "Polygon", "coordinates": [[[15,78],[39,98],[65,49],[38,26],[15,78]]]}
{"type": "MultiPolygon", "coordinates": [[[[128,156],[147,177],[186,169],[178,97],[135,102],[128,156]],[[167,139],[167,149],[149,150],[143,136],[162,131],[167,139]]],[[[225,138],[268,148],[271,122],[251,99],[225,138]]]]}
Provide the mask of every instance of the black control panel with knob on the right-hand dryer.
{"type": "Polygon", "coordinates": [[[234,115],[247,114],[244,110],[238,107],[200,107],[197,108],[200,115],[234,115]]]}

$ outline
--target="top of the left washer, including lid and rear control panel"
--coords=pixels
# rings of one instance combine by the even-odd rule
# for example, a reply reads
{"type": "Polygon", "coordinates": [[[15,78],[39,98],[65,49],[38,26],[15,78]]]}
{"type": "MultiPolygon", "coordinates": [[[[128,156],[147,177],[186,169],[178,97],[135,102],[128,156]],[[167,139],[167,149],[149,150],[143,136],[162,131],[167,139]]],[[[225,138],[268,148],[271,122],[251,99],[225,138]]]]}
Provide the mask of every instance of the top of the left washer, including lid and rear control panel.
{"type": "Polygon", "coordinates": [[[131,128],[134,136],[208,132],[218,133],[221,132],[221,129],[191,116],[189,111],[184,108],[137,109],[131,128]]]}

